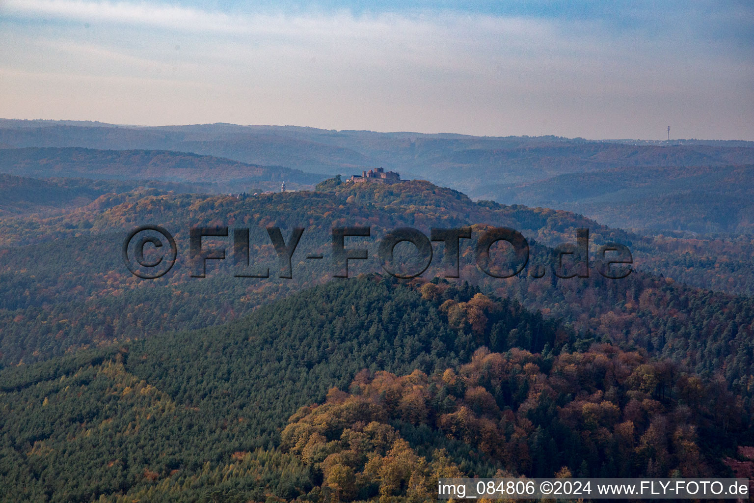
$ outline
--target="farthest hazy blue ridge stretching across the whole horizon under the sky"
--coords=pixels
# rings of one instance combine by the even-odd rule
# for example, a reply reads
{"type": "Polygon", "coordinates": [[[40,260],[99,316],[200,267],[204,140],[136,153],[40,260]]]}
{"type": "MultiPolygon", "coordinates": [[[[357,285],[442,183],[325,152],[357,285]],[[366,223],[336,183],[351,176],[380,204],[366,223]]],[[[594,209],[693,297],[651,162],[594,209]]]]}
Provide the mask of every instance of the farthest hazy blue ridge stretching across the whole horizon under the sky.
{"type": "MultiPolygon", "coordinates": [[[[29,121],[31,122],[31,121],[29,121]]],[[[752,142],[616,143],[558,136],[469,136],[378,133],[314,127],[193,124],[164,127],[87,127],[59,122],[0,122],[0,142],[14,146],[92,149],[165,149],[214,155],[251,164],[358,173],[385,167],[482,197],[489,183],[532,182],[563,173],[624,166],[754,163],[752,142]]],[[[505,202],[505,201],[501,201],[505,202]]]]}

